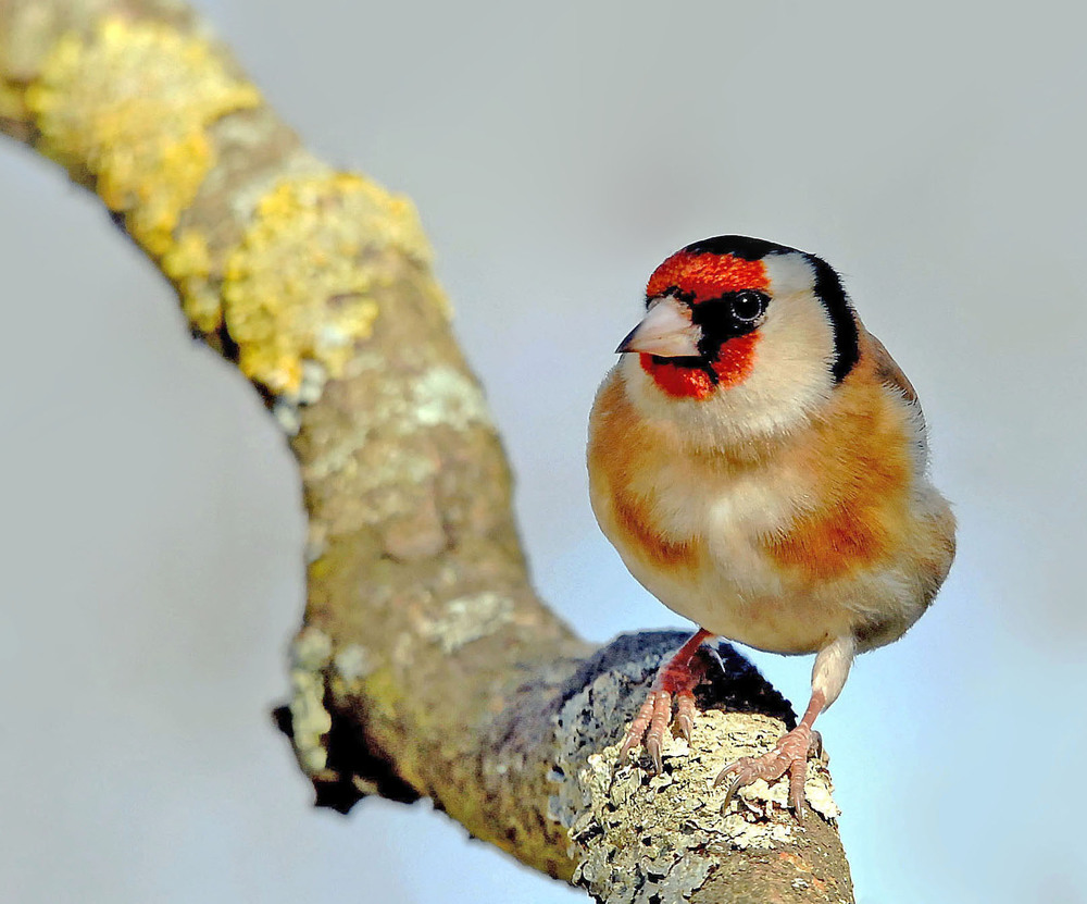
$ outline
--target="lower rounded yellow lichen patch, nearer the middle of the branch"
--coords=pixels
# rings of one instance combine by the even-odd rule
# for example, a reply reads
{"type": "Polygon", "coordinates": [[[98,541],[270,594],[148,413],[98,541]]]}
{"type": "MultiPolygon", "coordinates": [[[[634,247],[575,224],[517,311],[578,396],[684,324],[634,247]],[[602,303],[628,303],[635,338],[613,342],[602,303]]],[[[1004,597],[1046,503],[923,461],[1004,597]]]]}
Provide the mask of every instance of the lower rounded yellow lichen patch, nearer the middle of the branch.
{"type": "Polygon", "coordinates": [[[393,278],[374,255],[428,257],[410,201],[361,176],[285,177],[257,205],[226,263],[224,315],[239,367],[277,395],[298,396],[304,364],[342,375],[393,278]]]}

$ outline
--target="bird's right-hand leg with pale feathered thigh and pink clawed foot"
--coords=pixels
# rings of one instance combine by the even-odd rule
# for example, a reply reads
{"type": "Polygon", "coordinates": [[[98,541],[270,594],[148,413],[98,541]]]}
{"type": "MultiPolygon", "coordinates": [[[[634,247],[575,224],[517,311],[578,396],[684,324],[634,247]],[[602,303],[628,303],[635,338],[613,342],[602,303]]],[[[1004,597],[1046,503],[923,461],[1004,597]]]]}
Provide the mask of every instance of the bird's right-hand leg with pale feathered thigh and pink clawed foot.
{"type": "Polygon", "coordinates": [[[745,756],[721,770],[714,784],[721,784],[728,777],[733,778],[722,810],[727,808],[737,790],[744,785],[758,779],[777,781],[788,772],[789,805],[798,818],[803,817],[808,757],[810,754],[817,755],[823,746],[819,732],[812,726],[819,714],[829,707],[841,693],[853,661],[854,647],[853,637],[845,636],[821,649],[812,669],[811,701],[799,725],[785,734],[769,753],[745,756]]]}

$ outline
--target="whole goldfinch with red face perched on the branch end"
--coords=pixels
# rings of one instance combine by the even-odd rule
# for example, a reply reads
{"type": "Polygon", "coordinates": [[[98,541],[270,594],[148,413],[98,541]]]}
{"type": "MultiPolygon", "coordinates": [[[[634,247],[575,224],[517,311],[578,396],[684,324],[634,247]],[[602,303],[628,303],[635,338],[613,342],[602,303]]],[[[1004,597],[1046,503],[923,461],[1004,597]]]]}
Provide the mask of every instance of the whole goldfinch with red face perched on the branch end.
{"type": "Polygon", "coordinates": [[[687,245],[649,277],[589,416],[589,495],[630,573],[698,631],[660,668],[624,736],[661,771],[690,740],[704,641],[815,654],[803,716],[729,764],[724,809],[788,776],[804,813],[813,725],[854,657],[901,637],[935,598],[955,519],[934,486],[917,394],[822,258],[761,238],[687,245]]]}

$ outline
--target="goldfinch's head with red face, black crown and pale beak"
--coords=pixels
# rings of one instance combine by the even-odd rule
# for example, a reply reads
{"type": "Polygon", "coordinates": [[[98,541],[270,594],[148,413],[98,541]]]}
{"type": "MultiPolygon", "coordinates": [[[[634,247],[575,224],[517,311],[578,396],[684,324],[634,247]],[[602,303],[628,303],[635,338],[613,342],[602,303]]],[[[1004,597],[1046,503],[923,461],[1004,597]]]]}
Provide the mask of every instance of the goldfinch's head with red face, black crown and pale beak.
{"type": "Polygon", "coordinates": [[[859,325],[824,260],[724,235],[676,251],[649,277],[620,372],[650,418],[710,445],[787,434],[857,362],[859,325]]]}

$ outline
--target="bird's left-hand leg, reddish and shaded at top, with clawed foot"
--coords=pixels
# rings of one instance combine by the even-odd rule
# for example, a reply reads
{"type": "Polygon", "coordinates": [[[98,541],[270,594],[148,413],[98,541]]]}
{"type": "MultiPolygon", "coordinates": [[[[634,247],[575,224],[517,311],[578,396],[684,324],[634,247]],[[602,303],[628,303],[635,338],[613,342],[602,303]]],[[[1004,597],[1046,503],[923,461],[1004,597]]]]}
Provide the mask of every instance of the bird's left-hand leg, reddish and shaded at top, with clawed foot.
{"type": "Polygon", "coordinates": [[[700,659],[696,659],[695,654],[698,653],[702,641],[712,636],[709,631],[699,629],[679,647],[675,656],[661,666],[649,696],[626,730],[619,753],[620,763],[626,763],[630,751],[639,743],[645,743],[653,768],[658,772],[661,771],[663,768],[661,744],[669,722],[672,721],[673,699],[676,703],[676,725],[679,733],[690,741],[690,731],[695,726],[695,688],[705,673],[705,666],[700,659]]]}

